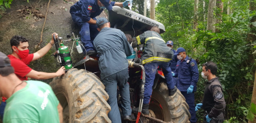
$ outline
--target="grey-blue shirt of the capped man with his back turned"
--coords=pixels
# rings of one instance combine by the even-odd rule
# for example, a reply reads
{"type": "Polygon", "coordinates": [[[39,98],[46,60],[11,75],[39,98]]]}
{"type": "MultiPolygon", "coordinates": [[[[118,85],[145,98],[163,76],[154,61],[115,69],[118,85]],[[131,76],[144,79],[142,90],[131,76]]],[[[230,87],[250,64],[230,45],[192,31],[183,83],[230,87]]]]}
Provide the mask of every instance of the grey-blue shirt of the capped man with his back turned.
{"type": "Polygon", "coordinates": [[[128,68],[126,57],[132,54],[133,49],[121,30],[103,28],[93,44],[99,55],[101,80],[128,68]]]}

